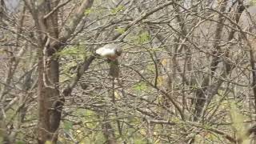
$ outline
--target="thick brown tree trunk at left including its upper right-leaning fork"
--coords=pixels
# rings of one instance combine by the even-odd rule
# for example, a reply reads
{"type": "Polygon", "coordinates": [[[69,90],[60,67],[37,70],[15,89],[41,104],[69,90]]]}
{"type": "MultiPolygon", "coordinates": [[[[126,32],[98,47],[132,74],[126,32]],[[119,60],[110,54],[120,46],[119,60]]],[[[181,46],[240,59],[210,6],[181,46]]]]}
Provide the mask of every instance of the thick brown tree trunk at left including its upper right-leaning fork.
{"type": "MultiPolygon", "coordinates": [[[[54,54],[62,48],[61,42],[66,42],[75,30],[82,16],[83,10],[90,7],[93,1],[85,0],[78,8],[75,19],[71,19],[71,31],[68,30],[62,38],[58,38],[58,6],[59,1],[43,1],[38,6],[38,14],[35,11],[34,20],[38,31],[38,143],[47,141],[56,143],[58,140],[58,126],[61,121],[62,106],[65,102],[64,95],[59,92],[59,63],[54,54]],[[53,11],[54,10],[54,11],[53,11]],[[47,17],[46,17],[47,16],[47,17]],[[36,18],[37,17],[37,18],[36,18]],[[60,39],[60,40],[58,40],[60,39]]],[[[32,9],[30,9],[32,10],[32,9]]],[[[80,75],[81,77],[81,75],[80,75]]],[[[78,77],[79,78],[79,77],[78,77]]],[[[78,80],[77,80],[78,81],[78,80]]],[[[71,88],[74,88],[72,86],[71,88]]]]}

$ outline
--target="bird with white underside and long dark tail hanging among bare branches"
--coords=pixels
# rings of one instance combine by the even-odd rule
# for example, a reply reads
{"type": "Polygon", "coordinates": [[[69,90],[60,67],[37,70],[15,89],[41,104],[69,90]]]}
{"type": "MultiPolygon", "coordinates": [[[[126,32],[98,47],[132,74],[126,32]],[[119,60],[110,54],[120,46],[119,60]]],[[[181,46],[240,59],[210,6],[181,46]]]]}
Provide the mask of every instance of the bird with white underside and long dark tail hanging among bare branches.
{"type": "Polygon", "coordinates": [[[119,77],[119,64],[118,57],[122,54],[121,46],[117,44],[106,44],[96,50],[96,54],[98,54],[102,58],[107,58],[107,62],[110,64],[109,75],[113,78],[119,77]]]}

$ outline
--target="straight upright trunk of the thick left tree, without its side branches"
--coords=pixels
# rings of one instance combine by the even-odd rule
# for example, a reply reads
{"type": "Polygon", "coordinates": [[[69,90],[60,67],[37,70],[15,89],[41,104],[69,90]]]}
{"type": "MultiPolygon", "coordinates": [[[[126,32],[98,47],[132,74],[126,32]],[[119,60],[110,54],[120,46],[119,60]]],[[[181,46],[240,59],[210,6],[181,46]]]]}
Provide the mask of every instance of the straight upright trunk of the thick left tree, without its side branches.
{"type": "MultiPolygon", "coordinates": [[[[58,1],[44,1],[38,13],[38,29],[49,34],[42,34],[49,43],[58,38],[58,11],[56,10],[47,19],[43,16],[57,5],[58,1]]],[[[61,119],[61,109],[58,108],[58,103],[60,99],[62,103],[64,102],[58,90],[58,58],[53,58],[56,48],[50,47],[47,43],[41,43],[46,46],[42,45],[40,48],[38,62],[38,143],[57,142],[57,134],[54,133],[61,119]]]]}

